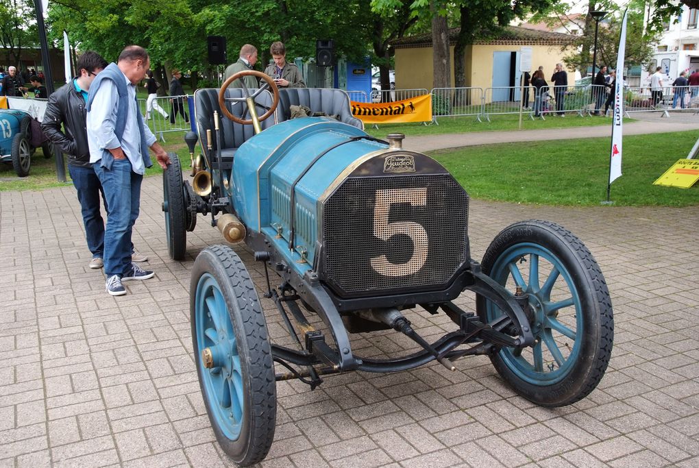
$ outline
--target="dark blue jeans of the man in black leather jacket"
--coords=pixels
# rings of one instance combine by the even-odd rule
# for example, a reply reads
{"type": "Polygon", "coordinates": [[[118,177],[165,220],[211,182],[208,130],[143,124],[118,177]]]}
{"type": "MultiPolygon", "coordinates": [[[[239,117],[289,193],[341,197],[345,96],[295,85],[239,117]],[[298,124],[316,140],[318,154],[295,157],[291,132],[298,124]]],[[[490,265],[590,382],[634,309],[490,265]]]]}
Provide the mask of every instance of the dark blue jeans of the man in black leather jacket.
{"type": "Polygon", "coordinates": [[[104,201],[105,210],[107,209],[102,185],[99,183],[99,178],[94,173],[93,168],[82,168],[69,164],[68,172],[73,180],[75,190],[78,191],[87,248],[92,252],[92,258],[101,258],[104,251],[104,220],[99,212],[100,198],[104,201]]]}

